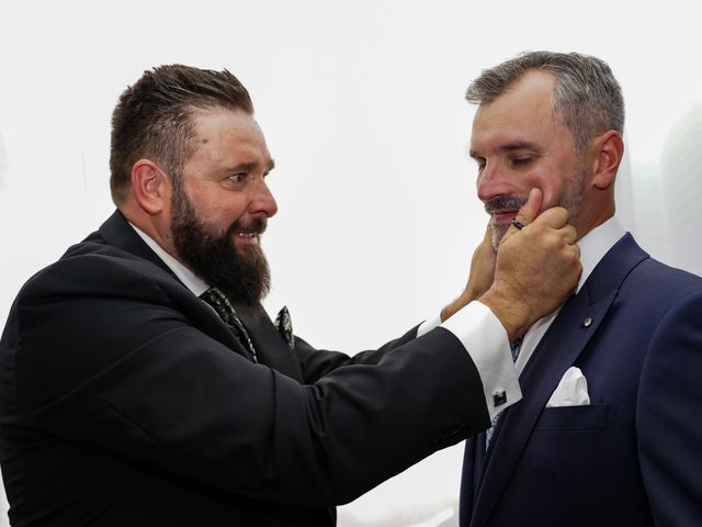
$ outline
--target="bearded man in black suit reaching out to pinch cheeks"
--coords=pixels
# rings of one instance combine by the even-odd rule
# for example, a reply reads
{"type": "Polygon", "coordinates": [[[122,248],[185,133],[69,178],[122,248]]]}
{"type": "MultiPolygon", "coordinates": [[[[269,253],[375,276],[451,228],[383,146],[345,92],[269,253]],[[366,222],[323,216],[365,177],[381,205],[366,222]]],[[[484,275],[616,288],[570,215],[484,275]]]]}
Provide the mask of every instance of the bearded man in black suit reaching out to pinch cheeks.
{"type": "Polygon", "coordinates": [[[478,301],[469,281],[443,316],[349,357],[261,307],[273,160],[231,74],[146,71],[112,124],[117,210],[29,280],[0,340],[12,525],[329,527],[333,505],[520,399],[508,338],[580,272],[539,191],[478,301]]]}

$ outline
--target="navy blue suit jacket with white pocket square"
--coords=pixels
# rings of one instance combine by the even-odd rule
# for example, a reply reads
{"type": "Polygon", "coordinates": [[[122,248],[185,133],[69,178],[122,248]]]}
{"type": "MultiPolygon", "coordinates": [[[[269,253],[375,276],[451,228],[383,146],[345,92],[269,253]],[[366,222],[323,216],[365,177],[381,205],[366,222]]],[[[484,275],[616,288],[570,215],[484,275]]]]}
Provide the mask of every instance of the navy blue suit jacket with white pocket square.
{"type": "Polygon", "coordinates": [[[520,381],[489,450],[466,442],[462,526],[702,525],[702,279],[625,235],[520,381]],[[571,366],[591,404],[545,408],[571,366]]]}

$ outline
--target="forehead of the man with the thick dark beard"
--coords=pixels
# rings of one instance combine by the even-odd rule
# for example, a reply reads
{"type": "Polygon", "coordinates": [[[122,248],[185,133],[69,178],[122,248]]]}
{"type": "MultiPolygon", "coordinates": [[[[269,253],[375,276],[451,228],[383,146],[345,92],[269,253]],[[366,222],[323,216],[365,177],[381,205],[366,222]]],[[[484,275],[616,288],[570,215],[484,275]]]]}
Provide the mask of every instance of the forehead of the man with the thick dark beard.
{"type": "Polygon", "coordinates": [[[223,108],[196,110],[193,124],[195,149],[191,160],[272,165],[263,132],[252,115],[223,108]]]}

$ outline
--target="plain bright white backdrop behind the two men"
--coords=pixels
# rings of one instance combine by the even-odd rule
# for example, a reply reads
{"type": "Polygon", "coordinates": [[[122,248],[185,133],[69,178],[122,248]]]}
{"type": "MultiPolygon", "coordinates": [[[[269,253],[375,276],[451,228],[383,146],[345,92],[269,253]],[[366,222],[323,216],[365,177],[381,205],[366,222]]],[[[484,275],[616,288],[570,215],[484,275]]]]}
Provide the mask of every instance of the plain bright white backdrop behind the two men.
{"type": "MultiPolygon", "coordinates": [[[[700,272],[680,215],[702,198],[692,4],[0,0],[0,323],[32,272],[111,213],[112,108],[165,63],[226,67],[249,88],[278,167],[267,306],[286,304],[316,346],[374,347],[458,293],[487,218],[463,92],[525,49],[610,63],[627,101],[623,218],[700,272]]],[[[342,507],[340,525],[455,525],[460,461],[460,446],[431,457],[342,507]]]]}

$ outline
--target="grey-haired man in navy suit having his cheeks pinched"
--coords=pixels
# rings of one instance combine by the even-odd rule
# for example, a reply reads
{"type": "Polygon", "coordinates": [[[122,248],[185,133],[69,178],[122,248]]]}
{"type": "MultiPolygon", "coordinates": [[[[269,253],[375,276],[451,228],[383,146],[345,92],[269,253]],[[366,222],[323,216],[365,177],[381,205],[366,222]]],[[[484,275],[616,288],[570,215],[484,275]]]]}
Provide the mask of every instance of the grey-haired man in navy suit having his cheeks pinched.
{"type": "Polygon", "coordinates": [[[523,401],[466,442],[461,525],[702,525],[702,279],[652,259],[615,216],[618,81],[598,58],[536,52],[466,98],[494,247],[539,187],[568,210],[584,269],[512,343],[523,401]]]}

